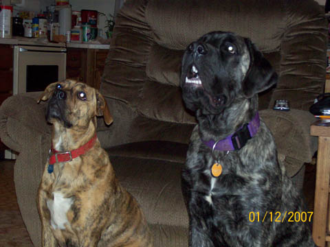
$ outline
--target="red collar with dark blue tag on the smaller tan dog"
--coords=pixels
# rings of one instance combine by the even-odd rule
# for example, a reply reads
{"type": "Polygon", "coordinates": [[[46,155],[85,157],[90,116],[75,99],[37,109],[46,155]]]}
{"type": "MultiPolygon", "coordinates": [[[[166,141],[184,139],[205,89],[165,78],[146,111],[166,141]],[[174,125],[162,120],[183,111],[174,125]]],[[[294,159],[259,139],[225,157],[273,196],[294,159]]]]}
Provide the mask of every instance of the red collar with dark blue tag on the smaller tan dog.
{"type": "Polygon", "coordinates": [[[95,142],[96,142],[97,136],[96,134],[94,137],[92,137],[87,143],[82,145],[80,148],[77,148],[76,150],[67,151],[67,152],[58,152],[54,150],[54,148],[51,148],[50,150],[50,157],[48,158],[48,172],[52,173],[54,168],[53,165],[55,163],[61,163],[61,162],[70,162],[74,158],[77,158],[78,156],[85,154],[88,150],[93,148],[95,142]]]}

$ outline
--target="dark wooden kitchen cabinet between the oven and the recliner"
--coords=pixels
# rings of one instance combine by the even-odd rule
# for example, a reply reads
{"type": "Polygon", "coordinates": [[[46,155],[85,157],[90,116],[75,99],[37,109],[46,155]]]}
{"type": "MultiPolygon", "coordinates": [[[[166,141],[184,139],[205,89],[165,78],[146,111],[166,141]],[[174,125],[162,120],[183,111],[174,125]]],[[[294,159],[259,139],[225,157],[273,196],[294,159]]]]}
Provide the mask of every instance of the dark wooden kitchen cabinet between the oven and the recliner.
{"type": "Polygon", "coordinates": [[[108,49],[67,48],[67,78],[100,88],[108,49]]]}

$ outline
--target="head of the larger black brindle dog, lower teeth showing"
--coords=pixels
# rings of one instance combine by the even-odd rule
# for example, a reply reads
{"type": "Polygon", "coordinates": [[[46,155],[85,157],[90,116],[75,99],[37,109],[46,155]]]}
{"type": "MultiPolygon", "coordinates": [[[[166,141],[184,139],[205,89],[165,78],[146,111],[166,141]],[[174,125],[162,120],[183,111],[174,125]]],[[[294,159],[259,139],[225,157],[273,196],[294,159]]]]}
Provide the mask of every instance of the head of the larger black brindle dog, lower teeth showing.
{"type": "Polygon", "coordinates": [[[211,32],[187,47],[180,80],[187,108],[220,114],[276,84],[277,74],[248,38],[211,32]]]}

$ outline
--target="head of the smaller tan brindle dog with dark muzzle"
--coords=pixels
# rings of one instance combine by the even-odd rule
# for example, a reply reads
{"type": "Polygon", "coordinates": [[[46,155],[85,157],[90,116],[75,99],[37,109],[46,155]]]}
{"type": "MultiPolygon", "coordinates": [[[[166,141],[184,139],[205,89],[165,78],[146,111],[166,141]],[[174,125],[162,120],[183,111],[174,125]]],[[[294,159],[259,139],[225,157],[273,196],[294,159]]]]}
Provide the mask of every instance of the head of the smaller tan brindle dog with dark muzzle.
{"type": "Polygon", "coordinates": [[[65,80],[47,86],[38,103],[50,99],[46,119],[60,122],[65,128],[86,128],[95,116],[103,116],[106,124],[113,119],[107,102],[98,91],[83,82],[65,80]]]}

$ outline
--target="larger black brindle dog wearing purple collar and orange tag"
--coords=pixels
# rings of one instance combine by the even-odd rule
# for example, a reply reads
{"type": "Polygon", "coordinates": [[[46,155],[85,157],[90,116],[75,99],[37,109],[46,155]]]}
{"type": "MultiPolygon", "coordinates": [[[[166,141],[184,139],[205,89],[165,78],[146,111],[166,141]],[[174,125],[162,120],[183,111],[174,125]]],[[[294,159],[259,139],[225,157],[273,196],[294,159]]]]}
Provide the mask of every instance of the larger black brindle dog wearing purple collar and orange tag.
{"type": "Polygon", "coordinates": [[[186,49],[181,88],[198,121],[182,170],[189,246],[315,246],[306,223],[288,222],[306,209],[258,115],[257,93],[277,78],[248,38],[212,32],[186,49]]]}

